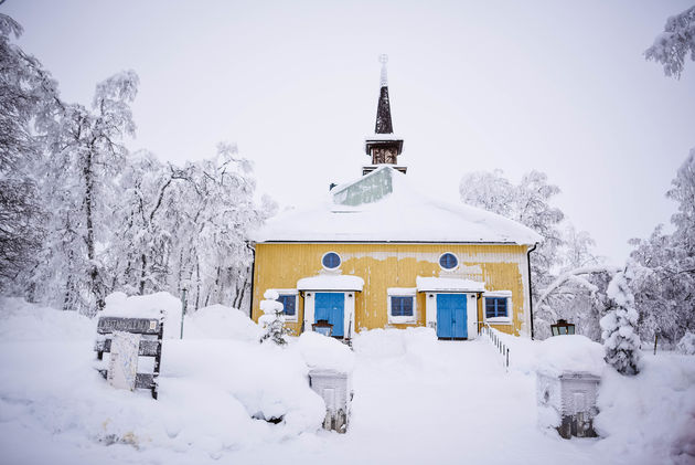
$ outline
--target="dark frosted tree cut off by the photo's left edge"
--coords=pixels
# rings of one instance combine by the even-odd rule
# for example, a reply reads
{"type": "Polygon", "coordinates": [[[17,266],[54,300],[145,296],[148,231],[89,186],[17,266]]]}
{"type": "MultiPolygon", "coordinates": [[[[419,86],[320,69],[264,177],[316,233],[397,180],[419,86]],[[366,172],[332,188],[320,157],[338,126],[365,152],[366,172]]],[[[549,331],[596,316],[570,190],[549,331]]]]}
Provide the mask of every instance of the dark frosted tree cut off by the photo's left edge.
{"type": "Polygon", "coordinates": [[[38,126],[57,98],[41,63],[11,42],[21,33],[19,23],[0,14],[0,290],[36,262],[44,232],[33,176],[43,148],[38,126]]]}

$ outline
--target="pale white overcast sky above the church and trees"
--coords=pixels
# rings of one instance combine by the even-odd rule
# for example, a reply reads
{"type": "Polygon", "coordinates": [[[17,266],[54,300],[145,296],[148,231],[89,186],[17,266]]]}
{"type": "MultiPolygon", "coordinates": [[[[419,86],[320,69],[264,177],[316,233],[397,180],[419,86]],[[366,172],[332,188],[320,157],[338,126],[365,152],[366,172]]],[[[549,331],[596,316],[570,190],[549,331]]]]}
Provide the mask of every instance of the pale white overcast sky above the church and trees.
{"type": "Polygon", "coordinates": [[[370,161],[387,53],[408,177],[458,201],[470,170],[545,171],[618,262],[628,239],[669,222],[664,193],[695,146],[695,63],[676,81],[642,56],[692,0],[573,3],[7,0],[0,12],[67,101],[138,72],[131,148],[180,162],[235,141],[284,205],[370,161]]]}

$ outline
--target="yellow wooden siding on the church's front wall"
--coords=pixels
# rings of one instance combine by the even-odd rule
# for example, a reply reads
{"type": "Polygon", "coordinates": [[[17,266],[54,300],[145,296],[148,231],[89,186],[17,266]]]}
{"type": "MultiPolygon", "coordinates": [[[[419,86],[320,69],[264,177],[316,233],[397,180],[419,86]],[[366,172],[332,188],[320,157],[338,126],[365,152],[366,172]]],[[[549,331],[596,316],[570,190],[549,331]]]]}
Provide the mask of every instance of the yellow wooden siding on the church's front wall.
{"type": "MultiPolygon", "coordinates": [[[[341,274],[364,279],[364,290],[355,293],[355,328],[374,329],[387,326],[406,328],[414,325],[388,325],[387,289],[416,287],[417,276],[463,277],[484,281],[488,290],[511,290],[513,325],[495,325],[501,331],[517,335],[523,323],[526,246],[470,244],[334,244],[334,243],[260,243],[256,245],[252,315],[260,315],[259,302],[268,288],[296,288],[302,277],[325,273],[321,257],[327,252],[341,256],[341,274]],[[459,258],[453,273],[443,272],[439,256],[451,252],[459,258]]],[[[417,326],[425,326],[424,293],[417,294],[417,326]]],[[[303,300],[298,302],[298,323],[287,326],[301,330],[303,300]]],[[[482,302],[478,302],[482,321],[482,302]]]]}

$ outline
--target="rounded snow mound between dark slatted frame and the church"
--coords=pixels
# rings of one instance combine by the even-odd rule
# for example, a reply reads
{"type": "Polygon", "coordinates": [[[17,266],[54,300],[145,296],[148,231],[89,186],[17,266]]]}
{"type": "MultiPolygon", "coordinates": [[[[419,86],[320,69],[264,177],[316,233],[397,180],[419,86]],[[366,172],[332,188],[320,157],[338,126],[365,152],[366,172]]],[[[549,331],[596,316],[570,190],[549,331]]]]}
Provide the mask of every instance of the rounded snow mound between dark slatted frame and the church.
{"type": "Polygon", "coordinates": [[[188,314],[183,324],[185,339],[234,339],[257,341],[260,329],[246,314],[224,305],[203,307],[188,314]]]}

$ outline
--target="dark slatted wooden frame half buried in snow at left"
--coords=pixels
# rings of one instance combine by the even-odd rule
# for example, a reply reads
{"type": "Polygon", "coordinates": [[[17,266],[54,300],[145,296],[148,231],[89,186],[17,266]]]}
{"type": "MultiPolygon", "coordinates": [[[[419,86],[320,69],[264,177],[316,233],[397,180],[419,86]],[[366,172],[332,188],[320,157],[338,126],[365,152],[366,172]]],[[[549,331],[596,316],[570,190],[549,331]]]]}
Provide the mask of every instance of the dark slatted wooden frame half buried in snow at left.
{"type": "MultiPolygon", "coordinates": [[[[159,318],[100,317],[97,323],[97,340],[94,346],[98,360],[103,360],[104,352],[111,351],[113,335],[117,331],[140,336],[138,357],[154,358],[154,368],[151,373],[136,373],[135,387],[150,389],[152,398],[157,399],[157,378],[161,364],[162,337],[164,335],[163,314],[159,318]]],[[[107,369],[100,368],[98,371],[108,379],[107,369]]]]}

